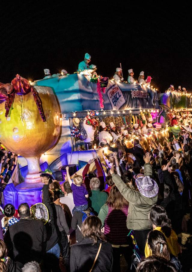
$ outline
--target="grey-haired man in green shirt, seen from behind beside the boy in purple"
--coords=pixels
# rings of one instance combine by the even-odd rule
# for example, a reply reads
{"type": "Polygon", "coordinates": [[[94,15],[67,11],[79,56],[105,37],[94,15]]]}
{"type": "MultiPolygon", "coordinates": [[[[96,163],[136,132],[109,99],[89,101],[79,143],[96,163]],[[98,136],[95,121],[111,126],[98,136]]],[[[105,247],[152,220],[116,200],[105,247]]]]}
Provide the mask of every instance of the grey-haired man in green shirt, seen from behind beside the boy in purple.
{"type": "Polygon", "coordinates": [[[105,204],[108,195],[106,192],[100,192],[100,181],[97,177],[93,177],[90,180],[90,207],[93,209],[95,215],[99,214],[101,207],[105,204]]]}

